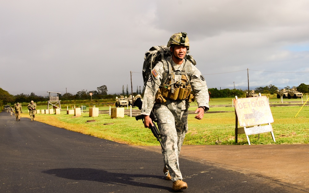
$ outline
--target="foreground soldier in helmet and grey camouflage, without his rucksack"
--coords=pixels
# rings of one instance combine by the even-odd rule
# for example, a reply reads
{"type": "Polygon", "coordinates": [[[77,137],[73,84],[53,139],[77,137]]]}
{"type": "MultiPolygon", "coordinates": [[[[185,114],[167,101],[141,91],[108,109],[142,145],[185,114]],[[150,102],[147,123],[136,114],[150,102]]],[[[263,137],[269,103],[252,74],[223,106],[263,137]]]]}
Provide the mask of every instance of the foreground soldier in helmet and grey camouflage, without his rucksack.
{"type": "MultiPolygon", "coordinates": [[[[187,79],[185,80],[187,83],[183,85],[191,85],[195,92],[195,100],[198,104],[198,108],[195,111],[195,113],[197,113],[195,118],[202,119],[204,113],[209,110],[208,88],[201,72],[191,62],[184,59],[189,50],[189,39],[186,33],[173,34],[167,43],[167,47],[170,47],[172,55],[167,57],[166,60],[167,63],[171,64],[175,72],[170,76],[169,83],[180,83],[182,80],[187,79]],[[189,63],[187,65],[189,68],[184,68],[187,62],[189,63]],[[184,71],[184,73],[176,73],[177,71],[184,71]],[[171,80],[173,79],[172,77],[174,77],[174,80],[171,80]]],[[[183,100],[172,100],[163,97],[172,94],[164,94],[164,87],[159,86],[163,84],[161,82],[162,79],[164,79],[163,72],[166,72],[163,66],[163,62],[159,61],[150,74],[145,88],[141,111],[145,118],[144,125],[145,127],[149,127],[150,124],[153,125],[149,117],[150,112],[153,109],[155,110],[155,114],[158,118],[158,128],[162,136],[162,143],[166,149],[166,152],[162,150],[164,162],[163,172],[166,174],[167,180],[173,181],[172,189],[177,191],[188,187],[187,183],[182,181],[183,178],[179,168],[178,156],[185,134],[188,131],[188,108],[191,98],[187,97],[183,100]],[[163,88],[163,90],[160,90],[160,88],[163,88]],[[163,93],[159,93],[160,91],[163,93]],[[177,113],[175,114],[175,112],[177,113]]]]}

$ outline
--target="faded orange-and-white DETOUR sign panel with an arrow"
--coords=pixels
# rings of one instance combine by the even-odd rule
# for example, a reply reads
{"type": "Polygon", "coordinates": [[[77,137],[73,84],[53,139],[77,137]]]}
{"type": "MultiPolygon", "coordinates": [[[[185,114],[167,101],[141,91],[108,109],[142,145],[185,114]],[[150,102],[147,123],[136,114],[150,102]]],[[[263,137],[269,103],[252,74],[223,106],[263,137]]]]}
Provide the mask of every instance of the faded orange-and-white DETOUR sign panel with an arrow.
{"type": "Polygon", "coordinates": [[[239,125],[261,125],[273,123],[273,115],[266,96],[234,99],[239,125]]]}

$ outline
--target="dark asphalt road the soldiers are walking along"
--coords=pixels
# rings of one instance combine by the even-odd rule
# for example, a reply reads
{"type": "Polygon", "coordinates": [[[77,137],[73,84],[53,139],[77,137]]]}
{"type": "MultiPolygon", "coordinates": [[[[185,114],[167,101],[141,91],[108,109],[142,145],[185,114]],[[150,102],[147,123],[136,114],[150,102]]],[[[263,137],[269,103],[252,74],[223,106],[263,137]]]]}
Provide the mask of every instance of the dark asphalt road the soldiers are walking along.
{"type": "MultiPolygon", "coordinates": [[[[163,176],[162,154],[157,146],[149,148],[119,144],[28,118],[16,121],[2,112],[0,192],[173,192],[171,181],[163,176]]],[[[188,183],[188,189],[182,192],[308,192],[269,176],[233,171],[190,157],[186,148],[179,160],[188,183]]],[[[206,156],[207,152],[199,154],[206,156]]]]}

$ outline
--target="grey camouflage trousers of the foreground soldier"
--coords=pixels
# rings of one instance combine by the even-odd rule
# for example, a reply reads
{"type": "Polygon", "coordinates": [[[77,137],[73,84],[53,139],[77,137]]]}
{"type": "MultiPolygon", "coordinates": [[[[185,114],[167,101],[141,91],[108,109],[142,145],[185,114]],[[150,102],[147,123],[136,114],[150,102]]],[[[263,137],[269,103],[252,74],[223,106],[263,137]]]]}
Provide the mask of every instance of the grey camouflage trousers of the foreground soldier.
{"type": "Polygon", "coordinates": [[[188,111],[181,111],[181,122],[179,123],[175,123],[175,118],[167,106],[161,105],[155,111],[158,117],[158,128],[162,134],[162,143],[166,150],[166,152],[162,151],[164,165],[168,166],[168,172],[173,182],[181,180],[178,156],[188,131],[188,111]]]}

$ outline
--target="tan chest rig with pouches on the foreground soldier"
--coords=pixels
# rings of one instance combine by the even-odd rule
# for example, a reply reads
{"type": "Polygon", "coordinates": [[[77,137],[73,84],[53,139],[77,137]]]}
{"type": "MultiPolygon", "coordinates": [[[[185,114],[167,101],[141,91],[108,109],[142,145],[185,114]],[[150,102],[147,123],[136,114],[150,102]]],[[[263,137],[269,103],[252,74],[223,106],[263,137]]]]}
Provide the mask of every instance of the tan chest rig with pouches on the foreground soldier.
{"type": "Polygon", "coordinates": [[[164,72],[162,74],[161,86],[155,95],[155,102],[160,104],[166,103],[167,108],[174,115],[177,122],[180,121],[182,101],[187,100],[188,102],[193,102],[195,97],[191,93],[191,63],[189,60],[184,60],[185,64],[181,71],[174,71],[170,61],[162,61],[164,72]],[[175,81],[175,75],[181,75],[181,79],[175,81]],[[173,109],[171,101],[177,101],[176,111],[173,109]]]}

